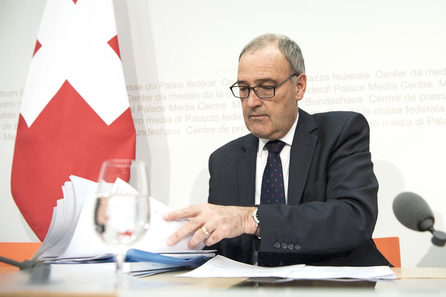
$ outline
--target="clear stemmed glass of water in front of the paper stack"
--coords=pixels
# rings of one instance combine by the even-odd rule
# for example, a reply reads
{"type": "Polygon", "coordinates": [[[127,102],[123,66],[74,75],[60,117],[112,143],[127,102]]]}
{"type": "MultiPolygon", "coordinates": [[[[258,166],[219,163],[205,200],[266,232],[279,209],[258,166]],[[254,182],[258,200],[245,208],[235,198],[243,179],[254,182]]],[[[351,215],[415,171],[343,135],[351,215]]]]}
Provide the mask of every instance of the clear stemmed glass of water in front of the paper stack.
{"type": "Polygon", "coordinates": [[[95,230],[105,243],[114,246],[118,287],[128,246],[149,228],[149,179],[144,161],[104,161],[96,194],[95,230]]]}

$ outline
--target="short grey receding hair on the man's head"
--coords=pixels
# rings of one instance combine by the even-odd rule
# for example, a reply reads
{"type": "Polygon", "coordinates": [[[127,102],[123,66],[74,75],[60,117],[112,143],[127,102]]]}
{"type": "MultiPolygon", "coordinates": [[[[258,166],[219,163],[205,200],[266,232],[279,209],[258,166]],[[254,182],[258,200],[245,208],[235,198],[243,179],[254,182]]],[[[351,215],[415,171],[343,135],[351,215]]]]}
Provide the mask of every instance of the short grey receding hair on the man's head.
{"type": "Polygon", "coordinates": [[[239,56],[239,62],[246,52],[254,53],[259,48],[263,48],[272,43],[276,43],[279,51],[284,54],[288,63],[290,63],[291,71],[300,75],[305,73],[305,64],[303,62],[302,52],[299,45],[285,35],[267,33],[252,39],[242,50],[239,56]]]}

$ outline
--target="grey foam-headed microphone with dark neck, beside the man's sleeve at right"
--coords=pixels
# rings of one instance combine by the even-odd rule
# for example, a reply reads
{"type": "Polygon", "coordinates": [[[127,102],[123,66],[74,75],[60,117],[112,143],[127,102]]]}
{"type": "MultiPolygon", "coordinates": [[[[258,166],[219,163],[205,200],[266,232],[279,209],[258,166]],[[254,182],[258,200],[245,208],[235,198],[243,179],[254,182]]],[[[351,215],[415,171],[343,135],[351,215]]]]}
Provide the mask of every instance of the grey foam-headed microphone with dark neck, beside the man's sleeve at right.
{"type": "Polygon", "coordinates": [[[431,232],[434,236],[432,237],[433,244],[443,246],[446,243],[446,233],[435,231],[434,214],[421,196],[412,192],[398,194],[393,200],[393,213],[407,228],[420,232],[431,232]]]}

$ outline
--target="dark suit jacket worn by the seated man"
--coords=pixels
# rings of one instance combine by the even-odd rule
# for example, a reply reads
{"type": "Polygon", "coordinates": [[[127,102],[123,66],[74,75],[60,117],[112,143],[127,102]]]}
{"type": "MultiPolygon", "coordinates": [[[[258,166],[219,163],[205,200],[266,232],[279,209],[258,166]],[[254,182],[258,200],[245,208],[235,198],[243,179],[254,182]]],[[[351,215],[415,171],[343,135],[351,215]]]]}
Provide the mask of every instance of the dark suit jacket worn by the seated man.
{"type": "MultiPolygon", "coordinates": [[[[369,126],[354,112],[310,115],[299,109],[290,155],[287,205],[259,205],[260,251],[290,253],[293,264],[390,265],[371,235],[378,216],[378,181],[369,126]]],[[[259,139],[233,140],[209,157],[208,202],[253,206],[259,139]]],[[[223,239],[212,248],[251,263],[254,236],[223,239]]]]}

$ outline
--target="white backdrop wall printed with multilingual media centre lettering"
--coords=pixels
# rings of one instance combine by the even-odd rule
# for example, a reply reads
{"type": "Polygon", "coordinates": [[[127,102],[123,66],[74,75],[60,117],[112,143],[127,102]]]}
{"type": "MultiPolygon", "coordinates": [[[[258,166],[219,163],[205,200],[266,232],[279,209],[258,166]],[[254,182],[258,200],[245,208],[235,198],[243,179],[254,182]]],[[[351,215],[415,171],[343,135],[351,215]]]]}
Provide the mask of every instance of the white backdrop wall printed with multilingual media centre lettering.
{"type": "MultiPolygon", "coordinates": [[[[10,172],[44,4],[0,0],[0,241],[38,241],[11,197],[10,172]]],[[[300,107],[355,110],[370,123],[380,182],[373,236],[399,236],[405,267],[446,266],[446,247],[392,212],[394,197],[413,191],[433,209],[435,228],[446,229],[446,2],[116,0],[115,11],[152,196],[173,208],[206,201],[209,154],[247,133],[228,88],[239,53],[257,35],[281,33],[306,60],[300,107]]]]}

